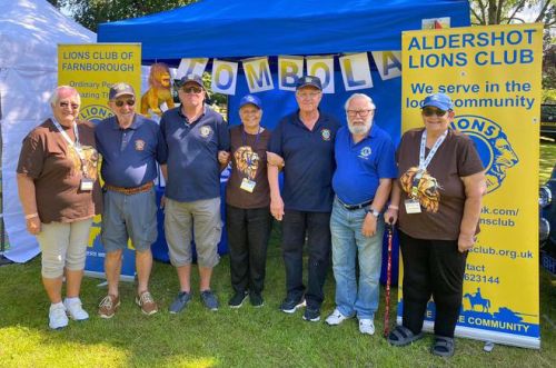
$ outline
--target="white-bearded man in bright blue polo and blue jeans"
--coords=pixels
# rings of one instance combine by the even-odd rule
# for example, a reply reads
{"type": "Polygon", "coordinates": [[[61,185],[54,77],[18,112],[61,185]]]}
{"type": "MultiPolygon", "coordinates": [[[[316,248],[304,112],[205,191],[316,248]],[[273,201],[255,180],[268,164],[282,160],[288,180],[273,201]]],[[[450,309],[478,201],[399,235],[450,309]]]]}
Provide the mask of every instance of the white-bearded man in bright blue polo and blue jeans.
{"type": "Polygon", "coordinates": [[[336,309],[326,322],[339,325],[357,316],[359,331],[373,335],[384,233],[379,215],[397,173],[395,149],[388,133],[373,123],[376,108],[368,96],[351,95],[345,109],[347,127],[336,135],[336,198],[330,219],[336,309]]]}

